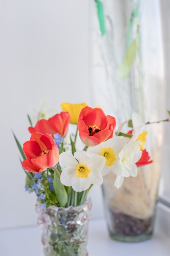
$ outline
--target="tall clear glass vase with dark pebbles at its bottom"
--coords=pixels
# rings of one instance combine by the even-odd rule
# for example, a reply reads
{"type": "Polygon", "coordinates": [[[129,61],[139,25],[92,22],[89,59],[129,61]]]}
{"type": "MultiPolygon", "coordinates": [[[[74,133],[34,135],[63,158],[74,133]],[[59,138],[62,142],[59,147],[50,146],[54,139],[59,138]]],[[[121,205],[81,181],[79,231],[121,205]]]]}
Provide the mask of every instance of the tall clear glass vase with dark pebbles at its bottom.
{"type": "MultiPolygon", "coordinates": [[[[107,112],[116,117],[117,127],[132,119],[133,111],[144,123],[165,118],[162,1],[101,2],[102,5],[93,4],[92,9],[91,76],[95,104],[98,105],[97,101],[100,106],[104,104],[107,112]]],[[[163,124],[148,125],[146,130],[146,148],[153,163],[139,168],[137,177],[125,178],[118,190],[113,173],[104,177],[108,229],[111,237],[118,240],[139,241],[152,235],[163,154],[163,124]]]]}

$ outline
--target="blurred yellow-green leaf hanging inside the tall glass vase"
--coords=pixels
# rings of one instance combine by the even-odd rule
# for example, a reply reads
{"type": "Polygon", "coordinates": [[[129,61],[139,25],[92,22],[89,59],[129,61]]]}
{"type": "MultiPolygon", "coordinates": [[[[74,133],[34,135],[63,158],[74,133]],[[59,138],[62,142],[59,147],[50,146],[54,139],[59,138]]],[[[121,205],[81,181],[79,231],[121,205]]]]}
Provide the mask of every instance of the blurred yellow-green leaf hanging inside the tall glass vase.
{"type": "Polygon", "coordinates": [[[130,72],[131,66],[133,64],[135,54],[138,48],[138,37],[133,40],[122,63],[118,67],[118,75],[120,79],[124,79],[130,72]]]}

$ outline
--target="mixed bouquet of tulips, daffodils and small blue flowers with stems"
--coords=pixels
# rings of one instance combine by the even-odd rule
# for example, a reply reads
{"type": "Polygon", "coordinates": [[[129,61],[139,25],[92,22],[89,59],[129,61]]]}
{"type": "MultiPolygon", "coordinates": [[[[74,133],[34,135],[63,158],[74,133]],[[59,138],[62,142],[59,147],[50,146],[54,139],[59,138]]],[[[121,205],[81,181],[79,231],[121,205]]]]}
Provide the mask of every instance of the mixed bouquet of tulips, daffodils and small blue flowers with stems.
{"type": "MultiPolygon", "coordinates": [[[[86,103],[62,103],[61,106],[63,112],[48,120],[38,120],[35,127],[32,126],[31,118],[28,116],[31,124],[29,127],[31,137],[24,143],[23,148],[14,135],[23,158],[23,161],[21,160],[22,167],[26,173],[25,190],[29,193],[35,191],[37,209],[41,213],[39,222],[47,225],[48,229],[51,222],[54,222],[52,219],[49,221],[49,216],[54,217],[52,214],[54,207],[69,208],[83,205],[93,184],[101,185],[103,176],[108,172],[112,171],[117,175],[115,186],[119,188],[125,177],[137,176],[138,166],[152,162],[145,149],[146,126],[140,121],[137,113],[134,112],[132,120],[128,122],[131,130],[128,133],[123,133],[121,130],[126,122],[121,124],[115,132],[115,117],[106,116],[101,108],[91,108],[86,103]],[[75,135],[68,135],[70,123],[76,126],[75,135]],[[78,133],[84,144],[81,150],[76,150],[75,146],[78,133]],[[44,215],[42,218],[42,214],[46,214],[46,218],[44,215]],[[45,219],[44,222],[42,219],[45,219]]],[[[82,212],[80,208],[78,209],[79,213],[82,212]]],[[[73,213],[72,210],[71,208],[71,213],[73,213]]],[[[61,216],[62,214],[60,214],[61,216]]],[[[76,224],[75,226],[73,223],[66,225],[68,233],[70,231],[74,233],[75,230],[78,232],[78,217],[69,213],[67,222],[69,222],[68,217],[70,216],[73,217],[72,221],[74,220],[76,224]],[[75,220],[75,218],[77,219],[75,220]]],[[[60,229],[62,224],[66,224],[66,217],[64,220],[60,220],[60,229]]],[[[57,230],[55,233],[54,227],[56,228],[56,225],[53,225],[50,235],[48,234],[53,250],[55,248],[55,252],[58,253],[54,255],[65,255],[63,247],[62,253],[59,253],[61,251],[59,249],[61,230],[57,230]]],[[[65,231],[66,228],[64,227],[63,230],[65,231]]],[[[62,234],[64,234],[63,230],[62,234]]],[[[78,233],[75,234],[76,237],[79,237],[78,233]]],[[[71,241],[71,239],[73,236],[67,234],[64,235],[64,238],[62,237],[61,241],[71,241]]],[[[79,237],[79,241],[81,239],[79,237]]],[[[44,240],[43,243],[45,243],[44,240]]],[[[75,245],[76,248],[79,248],[78,242],[75,245]]],[[[46,247],[48,246],[46,245],[46,247]]],[[[66,247],[64,248],[67,252],[66,247]]],[[[73,251],[78,252],[78,249],[74,247],[73,251]]],[[[85,254],[71,254],[69,247],[69,255],[85,254]]]]}

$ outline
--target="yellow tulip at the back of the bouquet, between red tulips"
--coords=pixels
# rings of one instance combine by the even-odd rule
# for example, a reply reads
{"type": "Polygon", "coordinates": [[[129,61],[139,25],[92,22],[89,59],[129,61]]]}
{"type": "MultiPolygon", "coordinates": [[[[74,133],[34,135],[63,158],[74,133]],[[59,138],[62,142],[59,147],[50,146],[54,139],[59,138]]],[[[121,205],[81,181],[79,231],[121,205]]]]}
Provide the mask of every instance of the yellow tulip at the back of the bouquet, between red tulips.
{"type": "Polygon", "coordinates": [[[82,108],[88,106],[86,103],[78,103],[72,104],[68,102],[64,102],[61,104],[62,110],[64,112],[68,112],[70,114],[70,123],[77,124],[79,113],[81,112],[82,108]]]}

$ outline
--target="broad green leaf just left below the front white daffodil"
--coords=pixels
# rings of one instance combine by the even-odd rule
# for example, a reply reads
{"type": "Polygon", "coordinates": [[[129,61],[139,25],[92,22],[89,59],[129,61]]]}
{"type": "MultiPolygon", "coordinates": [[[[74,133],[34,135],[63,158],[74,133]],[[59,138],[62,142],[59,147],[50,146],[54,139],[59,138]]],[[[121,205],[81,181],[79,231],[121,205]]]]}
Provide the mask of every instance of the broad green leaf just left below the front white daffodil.
{"type": "Polygon", "coordinates": [[[66,206],[68,196],[67,196],[66,190],[64,189],[64,185],[61,183],[60,179],[57,177],[55,172],[54,172],[53,186],[54,186],[55,195],[60,204],[60,207],[66,206]]]}

